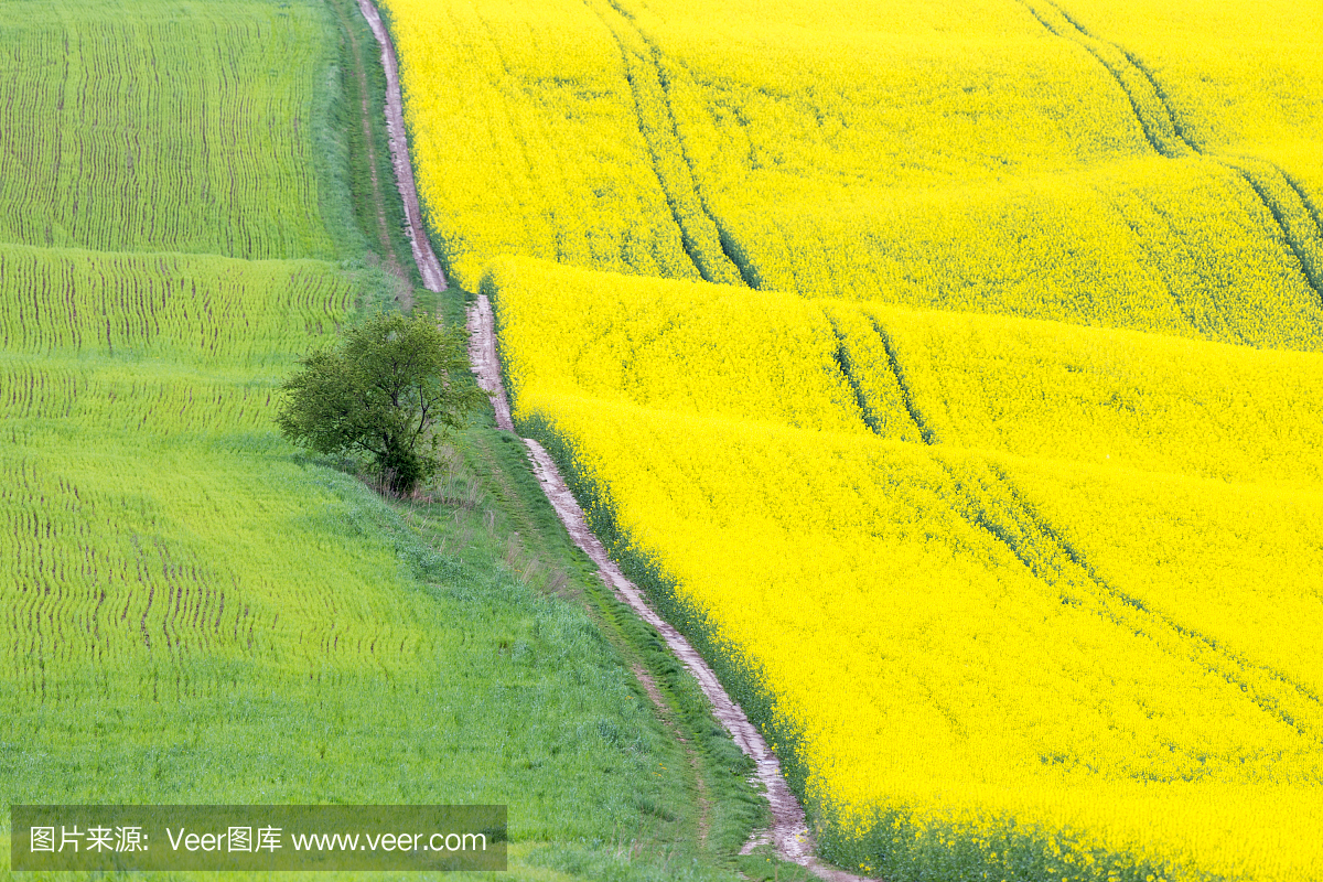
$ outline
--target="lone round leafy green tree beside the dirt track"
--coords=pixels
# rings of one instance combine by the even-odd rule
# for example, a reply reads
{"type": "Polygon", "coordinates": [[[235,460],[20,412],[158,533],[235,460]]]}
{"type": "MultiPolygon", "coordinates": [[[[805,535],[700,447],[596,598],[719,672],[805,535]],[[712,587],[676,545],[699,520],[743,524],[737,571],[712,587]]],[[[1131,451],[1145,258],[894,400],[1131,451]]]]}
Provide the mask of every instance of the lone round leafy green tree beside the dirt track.
{"type": "Polygon", "coordinates": [[[299,360],[275,418],[319,454],[366,454],[382,483],[406,495],[435,472],[437,447],[483,401],[464,374],[464,335],[427,313],[382,312],[299,360]]]}

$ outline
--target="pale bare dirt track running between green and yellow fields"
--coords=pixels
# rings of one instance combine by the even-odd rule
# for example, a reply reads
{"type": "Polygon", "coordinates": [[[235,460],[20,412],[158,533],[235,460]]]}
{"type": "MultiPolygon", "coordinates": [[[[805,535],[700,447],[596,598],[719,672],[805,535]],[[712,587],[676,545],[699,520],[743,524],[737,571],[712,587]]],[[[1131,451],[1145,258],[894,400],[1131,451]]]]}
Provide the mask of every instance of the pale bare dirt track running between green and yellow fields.
{"type": "MultiPolygon", "coordinates": [[[[413,180],[413,165],[409,159],[409,144],[405,136],[400,69],[394,45],[372,0],[359,0],[359,8],[363,11],[364,17],[372,26],[372,32],[381,44],[381,61],[386,73],[386,127],[390,140],[392,164],[396,169],[400,196],[405,204],[405,221],[409,226],[407,233],[413,246],[414,261],[418,263],[418,271],[422,274],[423,284],[427,290],[442,291],[446,287],[446,274],[437,261],[431,243],[423,231],[418,192],[413,180]]],[[[496,357],[492,308],[486,295],[479,295],[478,301],[470,308],[468,331],[471,335],[468,360],[479,385],[491,397],[492,406],[496,410],[496,424],[505,431],[513,432],[515,424],[511,421],[509,402],[501,383],[500,362],[496,357]]],[[[703,660],[703,656],[699,655],[679,631],[652,610],[638,586],[630,582],[620,573],[615,562],[611,561],[606,549],[602,547],[598,538],[587,529],[583,512],[579,509],[574,495],[566,487],[565,479],[561,476],[550,455],[536,440],[527,438],[523,440],[528,448],[533,473],[542,492],[552,502],[552,506],[556,509],[576,545],[597,565],[602,581],[607,587],[622,602],[627,603],[640,619],[662,635],[671,652],[697,680],[704,696],[706,696],[712,705],[713,715],[725,726],[736,744],[757,764],[757,779],[766,791],[767,801],[771,807],[773,824],[770,830],[754,833],[745,845],[744,853],[749,853],[754,848],[770,842],[782,860],[804,866],[827,882],[861,882],[863,877],[828,866],[814,857],[814,841],[808,834],[804,811],[800,808],[795,795],[786,785],[781,771],[781,762],[767,747],[767,742],[762,738],[762,734],[749,722],[744,709],[726,694],[721,681],[717,680],[716,673],[703,660]]],[[[650,693],[650,697],[652,697],[656,686],[651,682],[651,678],[642,670],[636,672],[636,674],[642,674],[639,678],[644,689],[650,693]]],[[[664,713],[664,706],[659,707],[659,711],[664,713]]],[[[704,833],[703,826],[705,824],[700,821],[700,836],[704,833]]]]}

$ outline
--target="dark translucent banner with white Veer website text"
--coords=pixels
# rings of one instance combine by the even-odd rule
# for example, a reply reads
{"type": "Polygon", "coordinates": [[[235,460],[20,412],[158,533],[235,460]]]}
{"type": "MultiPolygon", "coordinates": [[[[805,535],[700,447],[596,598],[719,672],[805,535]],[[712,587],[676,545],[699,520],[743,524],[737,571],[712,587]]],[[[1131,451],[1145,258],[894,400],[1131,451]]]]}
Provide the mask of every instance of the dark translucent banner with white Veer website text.
{"type": "Polygon", "coordinates": [[[504,805],[13,805],[9,869],[504,870],[504,805]]]}

